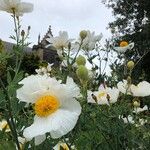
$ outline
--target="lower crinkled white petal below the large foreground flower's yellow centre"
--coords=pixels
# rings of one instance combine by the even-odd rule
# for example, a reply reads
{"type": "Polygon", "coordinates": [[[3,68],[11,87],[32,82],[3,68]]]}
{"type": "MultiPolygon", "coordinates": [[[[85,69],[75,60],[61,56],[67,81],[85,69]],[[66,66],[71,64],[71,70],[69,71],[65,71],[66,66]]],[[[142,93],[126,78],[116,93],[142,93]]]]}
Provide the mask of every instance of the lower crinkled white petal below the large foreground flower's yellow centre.
{"type": "Polygon", "coordinates": [[[33,138],[50,132],[52,138],[59,138],[75,127],[80,113],[79,102],[70,100],[48,117],[35,116],[33,124],[23,134],[26,138],[33,138]]]}

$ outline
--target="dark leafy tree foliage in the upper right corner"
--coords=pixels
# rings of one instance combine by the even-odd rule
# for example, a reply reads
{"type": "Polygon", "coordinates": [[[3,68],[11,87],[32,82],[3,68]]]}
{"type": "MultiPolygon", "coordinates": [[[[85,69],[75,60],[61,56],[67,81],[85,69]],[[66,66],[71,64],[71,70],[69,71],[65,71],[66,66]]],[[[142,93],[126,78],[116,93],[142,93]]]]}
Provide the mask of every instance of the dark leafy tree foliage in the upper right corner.
{"type": "Polygon", "coordinates": [[[109,23],[114,43],[126,40],[135,43],[133,55],[128,59],[139,61],[134,74],[146,74],[150,80],[150,0],[102,0],[112,9],[115,21],[109,23]],[[132,56],[132,57],[131,57],[132,56]]]}

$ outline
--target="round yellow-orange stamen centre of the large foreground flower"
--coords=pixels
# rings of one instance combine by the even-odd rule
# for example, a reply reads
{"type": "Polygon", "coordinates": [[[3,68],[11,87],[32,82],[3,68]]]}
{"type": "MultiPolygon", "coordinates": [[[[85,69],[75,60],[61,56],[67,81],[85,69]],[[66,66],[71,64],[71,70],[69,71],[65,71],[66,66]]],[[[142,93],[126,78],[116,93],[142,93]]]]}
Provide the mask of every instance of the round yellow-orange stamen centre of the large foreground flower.
{"type": "Polygon", "coordinates": [[[35,114],[39,117],[47,117],[54,113],[60,106],[59,100],[54,96],[40,97],[34,106],[35,114]]]}

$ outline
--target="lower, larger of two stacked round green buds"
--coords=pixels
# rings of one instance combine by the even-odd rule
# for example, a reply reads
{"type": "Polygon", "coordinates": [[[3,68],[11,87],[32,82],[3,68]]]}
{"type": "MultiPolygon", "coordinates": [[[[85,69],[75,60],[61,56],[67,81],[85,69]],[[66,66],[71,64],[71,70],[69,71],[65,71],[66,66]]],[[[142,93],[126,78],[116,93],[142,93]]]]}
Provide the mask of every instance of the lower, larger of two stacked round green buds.
{"type": "Polygon", "coordinates": [[[85,66],[80,65],[76,71],[76,74],[81,82],[85,83],[88,81],[88,69],[85,66]]]}

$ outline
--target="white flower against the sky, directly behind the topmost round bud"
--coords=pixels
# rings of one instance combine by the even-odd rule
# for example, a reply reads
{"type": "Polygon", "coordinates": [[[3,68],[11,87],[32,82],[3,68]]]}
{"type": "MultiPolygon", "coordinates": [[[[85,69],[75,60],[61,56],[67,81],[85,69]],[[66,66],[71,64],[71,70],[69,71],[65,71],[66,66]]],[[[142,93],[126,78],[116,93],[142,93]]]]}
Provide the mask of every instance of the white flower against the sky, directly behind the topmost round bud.
{"type": "Polygon", "coordinates": [[[82,49],[87,51],[95,49],[96,43],[99,42],[102,37],[102,34],[95,35],[95,32],[87,31],[87,36],[83,40],[82,49]]]}

